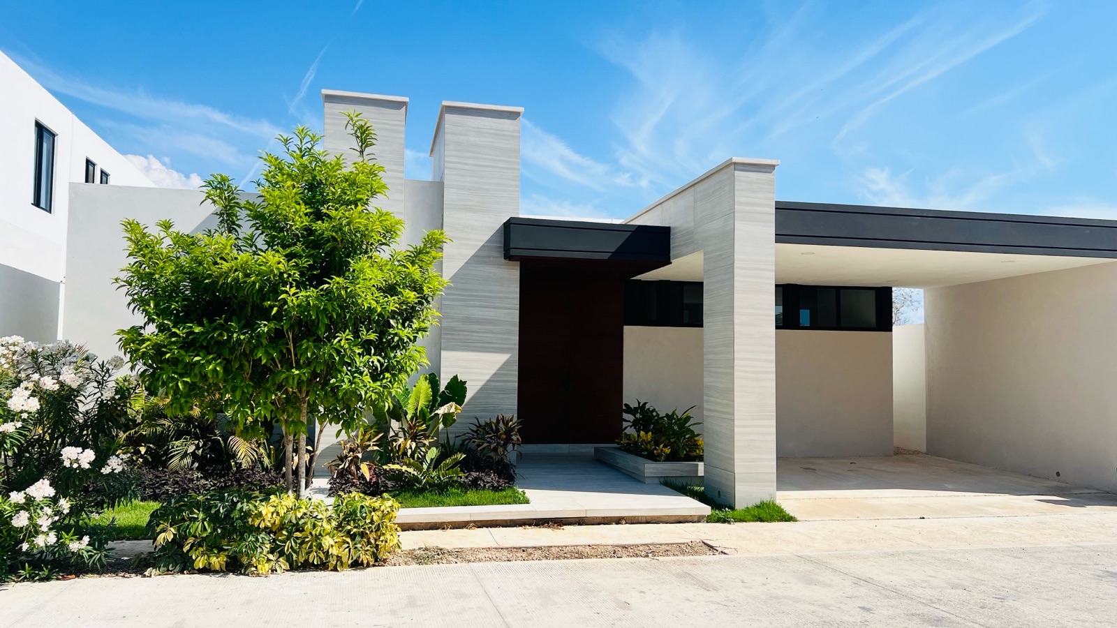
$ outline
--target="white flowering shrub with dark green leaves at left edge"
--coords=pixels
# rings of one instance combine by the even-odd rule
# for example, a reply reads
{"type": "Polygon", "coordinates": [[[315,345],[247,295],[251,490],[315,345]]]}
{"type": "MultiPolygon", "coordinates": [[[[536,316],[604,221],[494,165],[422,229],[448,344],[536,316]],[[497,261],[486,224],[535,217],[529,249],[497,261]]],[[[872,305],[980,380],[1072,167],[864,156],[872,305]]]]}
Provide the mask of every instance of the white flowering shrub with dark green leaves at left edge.
{"type": "Polygon", "coordinates": [[[136,383],[68,342],[0,339],[0,580],[98,567],[99,510],[124,497],[136,383]]]}

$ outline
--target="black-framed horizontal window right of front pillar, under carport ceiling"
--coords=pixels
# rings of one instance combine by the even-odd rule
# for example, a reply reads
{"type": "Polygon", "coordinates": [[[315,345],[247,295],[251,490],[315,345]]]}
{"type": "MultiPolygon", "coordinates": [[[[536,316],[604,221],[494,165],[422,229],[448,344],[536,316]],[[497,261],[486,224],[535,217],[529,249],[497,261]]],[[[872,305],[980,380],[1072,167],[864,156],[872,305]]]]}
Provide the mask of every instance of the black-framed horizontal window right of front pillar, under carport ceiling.
{"type": "Polygon", "coordinates": [[[892,288],[865,286],[775,287],[781,330],[890,332],[892,288]]]}

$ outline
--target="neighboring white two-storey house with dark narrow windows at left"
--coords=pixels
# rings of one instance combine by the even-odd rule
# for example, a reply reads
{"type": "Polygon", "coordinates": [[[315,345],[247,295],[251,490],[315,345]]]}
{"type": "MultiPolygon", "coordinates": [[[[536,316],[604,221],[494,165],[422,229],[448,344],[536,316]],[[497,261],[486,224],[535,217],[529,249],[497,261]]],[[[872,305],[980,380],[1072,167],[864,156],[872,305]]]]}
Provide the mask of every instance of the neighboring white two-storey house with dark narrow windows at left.
{"type": "Polygon", "coordinates": [[[51,341],[70,183],[153,183],[3,54],[0,94],[0,335],[51,341]]]}

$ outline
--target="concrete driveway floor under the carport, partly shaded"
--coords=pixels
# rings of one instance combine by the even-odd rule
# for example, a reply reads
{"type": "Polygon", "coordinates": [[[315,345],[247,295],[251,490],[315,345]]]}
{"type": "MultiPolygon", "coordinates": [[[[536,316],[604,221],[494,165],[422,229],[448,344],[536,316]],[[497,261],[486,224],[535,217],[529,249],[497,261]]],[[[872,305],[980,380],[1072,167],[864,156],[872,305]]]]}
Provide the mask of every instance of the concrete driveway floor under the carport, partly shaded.
{"type": "Polygon", "coordinates": [[[800,521],[1117,512],[1096,488],[926,455],[781,458],[777,501],[800,521]]]}

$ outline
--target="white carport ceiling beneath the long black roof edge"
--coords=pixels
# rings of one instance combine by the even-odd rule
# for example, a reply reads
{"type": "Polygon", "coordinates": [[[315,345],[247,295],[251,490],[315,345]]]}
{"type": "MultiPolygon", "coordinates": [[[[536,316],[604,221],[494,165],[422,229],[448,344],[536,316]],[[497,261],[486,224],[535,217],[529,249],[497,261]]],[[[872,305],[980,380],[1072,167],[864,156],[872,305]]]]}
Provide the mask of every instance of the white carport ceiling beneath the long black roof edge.
{"type": "Polygon", "coordinates": [[[777,284],[932,288],[1113,263],[1097,257],[775,245],[777,284]]]}

